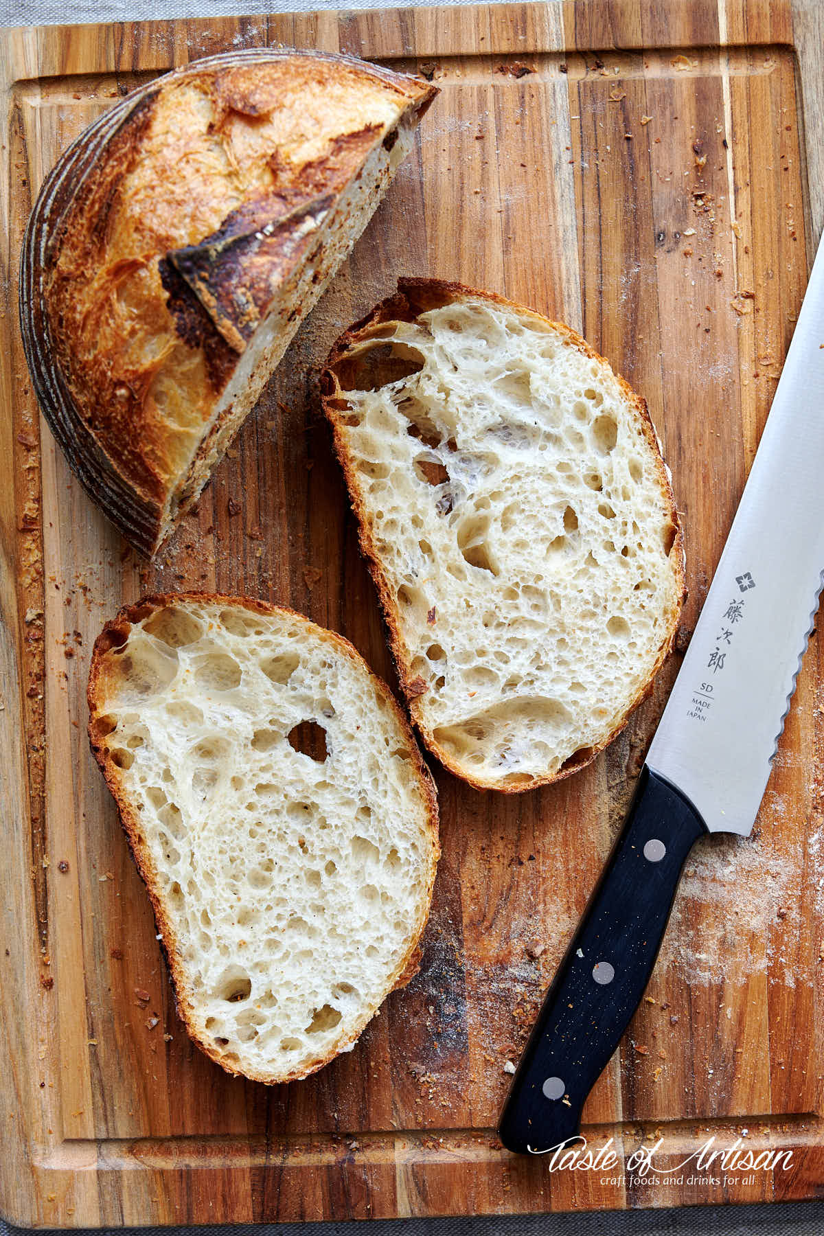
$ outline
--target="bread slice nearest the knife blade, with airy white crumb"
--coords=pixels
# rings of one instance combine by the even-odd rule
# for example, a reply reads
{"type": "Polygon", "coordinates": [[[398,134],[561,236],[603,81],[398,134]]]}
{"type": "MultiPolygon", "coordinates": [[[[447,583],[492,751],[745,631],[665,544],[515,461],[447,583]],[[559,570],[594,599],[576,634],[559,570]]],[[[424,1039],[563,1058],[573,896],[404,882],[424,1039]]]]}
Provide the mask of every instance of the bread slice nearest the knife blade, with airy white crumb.
{"type": "Polygon", "coordinates": [[[321,392],[430,750],[509,791],[587,764],[684,595],[644,400],[568,326],[434,279],[347,331],[321,392]]]}

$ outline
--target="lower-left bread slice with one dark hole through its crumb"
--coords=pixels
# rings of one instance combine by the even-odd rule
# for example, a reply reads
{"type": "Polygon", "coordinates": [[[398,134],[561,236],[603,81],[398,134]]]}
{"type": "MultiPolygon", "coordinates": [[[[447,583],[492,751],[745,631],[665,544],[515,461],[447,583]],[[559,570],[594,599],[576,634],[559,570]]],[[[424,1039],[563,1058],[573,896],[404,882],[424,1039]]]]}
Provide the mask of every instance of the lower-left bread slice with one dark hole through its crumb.
{"type": "Polygon", "coordinates": [[[383,682],[288,609],[182,593],[106,624],[89,712],[195,1043],[268,1083],[350,1051],[418,969],[439,857],[383,682]]]}

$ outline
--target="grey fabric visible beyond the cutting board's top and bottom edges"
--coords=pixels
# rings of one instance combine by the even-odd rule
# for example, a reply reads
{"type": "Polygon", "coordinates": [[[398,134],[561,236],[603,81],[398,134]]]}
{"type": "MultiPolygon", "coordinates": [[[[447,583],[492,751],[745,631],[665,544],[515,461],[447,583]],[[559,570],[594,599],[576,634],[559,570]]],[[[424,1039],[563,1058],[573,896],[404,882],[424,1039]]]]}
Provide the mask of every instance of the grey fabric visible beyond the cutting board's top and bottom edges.
{"type": "MultiPolygon", "coordinates": [[[[424,0],[425,2],[425,0],[424,0]]],[[[471,4],[474,0],[450,0],[471,4]]],[[[676,2],[676,0],[668,0],[676,2]]],[[[684,0],[686,2],[686,0],[684,0]]],[[[824,2],[824,0],[819,0],[824,2]]],[[[421,0],[394,0],[418,6],[421,0]]],[[[42,26],[88,21],[140,21],[163,17],[243,16],[264,12],[303,12],[316,9],[384,9],[385,0],[358,0],[357,5],[324,0],[0,0],[0,26],[42,26]]],[[[392,5],[394,6],[394,5],[392,5]]],[[[0,1172],[2,1162],[0,1158],[0,1172]]],[[[824,1182],[822,1182],[824,1196],[824,1182]]],[[[107,1229],[106,1229],[107,1230],[107,1229]]],[[[0,1236],[21,1231],[0,1220],[0,1236]]],[[[127,1229],[147,1236],[147,1229],[127,1229]]],[[[164,1229],[164,1236],[184,1236],[187,1229],[164,1229]]],[[[248,1236],[248,1227],[199,1227],[198,1236],[248,1236]]],[[[253,1236],[824,1236],[824,1201],[759,1206],[696,1206],[681,1210],[628,1214],[530,1215],[469,1219],[372,1220],[368,1224],[261,1225],[253,1236]]]]}

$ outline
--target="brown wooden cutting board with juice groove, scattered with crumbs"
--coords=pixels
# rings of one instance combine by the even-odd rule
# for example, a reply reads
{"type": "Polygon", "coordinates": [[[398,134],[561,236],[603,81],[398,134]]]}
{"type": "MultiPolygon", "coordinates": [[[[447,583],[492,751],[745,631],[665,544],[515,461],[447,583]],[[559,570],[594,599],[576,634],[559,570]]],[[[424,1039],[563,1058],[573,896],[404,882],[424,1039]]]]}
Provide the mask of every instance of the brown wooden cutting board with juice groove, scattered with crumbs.
{"type": "Polygon", "coordinates": [[[591,1145],[612,1137],[616,1154],[602,1172],[511,1157],[494,1125],[677,653],[609,751],[560,786],[504,797],[437,774],[444,857],[420,975],[351,1054],[274,1089],[224,1074],[175,1018],[89,755],[84,691],[104,619],[143,590],[183,587],[293,606],[393,681],[310,375],[401,273],[563,319],[644,393],[687,529],[683,651],[824,220],[824,7],[578,0],[52,27],[4,32],[0,47],[2,1214],[117,1226],[822,1194],[815,638],[755,833],[688,860],[645,1002],[587,1104],[591,1145]],[[189,59],[279,42],[421,73],[441,94],[196,514],[148,567],[40,420],[16,324],[21,231],[59,151],[112,100],[189,59]],[[792,1154],[775,1170],[702,1168],[689,1156],[708,1138],[792,1154]],[[633,1179],[629,1156],[658,1140],[656,1166],[686,1167],[633,1179]]]}

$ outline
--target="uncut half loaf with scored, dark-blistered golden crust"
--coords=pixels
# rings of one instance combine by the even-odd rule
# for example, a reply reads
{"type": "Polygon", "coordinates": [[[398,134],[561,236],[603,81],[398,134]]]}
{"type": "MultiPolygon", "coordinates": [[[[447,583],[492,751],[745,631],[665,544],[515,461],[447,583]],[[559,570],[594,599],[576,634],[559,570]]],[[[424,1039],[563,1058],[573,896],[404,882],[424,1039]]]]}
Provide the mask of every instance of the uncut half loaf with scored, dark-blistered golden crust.
{"type": "Polygon", "coordinates": [[[196,499],[436,93],[348,56],[232,52],[141,87],[47,177],[22,251],[26,357],[137,549],[196,499]]]}

